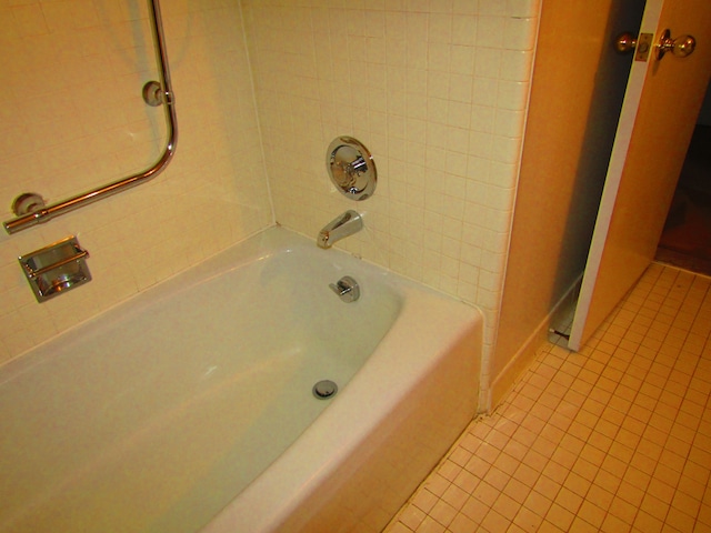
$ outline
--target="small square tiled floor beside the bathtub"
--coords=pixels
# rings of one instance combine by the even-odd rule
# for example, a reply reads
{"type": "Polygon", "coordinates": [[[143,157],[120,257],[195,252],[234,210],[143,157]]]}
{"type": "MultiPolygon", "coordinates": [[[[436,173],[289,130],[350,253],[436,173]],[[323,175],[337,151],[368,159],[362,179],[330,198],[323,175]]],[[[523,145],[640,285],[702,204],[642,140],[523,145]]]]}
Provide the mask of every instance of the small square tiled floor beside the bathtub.
{"type": "Polygon", "coordinates": [[[581,353],[543,346],[385,531],[711,532],[710,285],[653,264],[581,353]]]}

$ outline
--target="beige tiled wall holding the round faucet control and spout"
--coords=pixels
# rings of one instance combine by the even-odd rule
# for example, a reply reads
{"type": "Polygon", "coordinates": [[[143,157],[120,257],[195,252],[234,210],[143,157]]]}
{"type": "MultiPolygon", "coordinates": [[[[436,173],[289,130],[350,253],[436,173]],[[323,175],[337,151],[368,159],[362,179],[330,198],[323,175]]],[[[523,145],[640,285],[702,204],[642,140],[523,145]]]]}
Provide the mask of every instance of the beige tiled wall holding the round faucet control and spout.
{"type": "Polygon", "coordinates": [[[316,235],[360,210],[367,231],[341,245],[478,304],[490,346],[539,1],[242,4],[277,219],[316,235]],[[330,185],[326,150],[339,134],[375,158],[365,202],[330,185]]]}

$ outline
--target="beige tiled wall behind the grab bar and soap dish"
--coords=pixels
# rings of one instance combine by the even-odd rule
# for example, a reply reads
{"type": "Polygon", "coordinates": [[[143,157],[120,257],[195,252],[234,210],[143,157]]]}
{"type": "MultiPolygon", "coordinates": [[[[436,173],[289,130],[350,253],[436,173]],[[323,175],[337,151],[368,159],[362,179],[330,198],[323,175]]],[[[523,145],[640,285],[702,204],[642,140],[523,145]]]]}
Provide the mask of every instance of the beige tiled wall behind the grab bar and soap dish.
{"type": "MultiPolygon", "coordinates": [[[[238,2],[162,0],[180,130],[154,181],[0,237],[0,362],[273,221],[238,2]],[[78,234],[93,281],[43,304],[17,257],[78,234]]],[[[161,109],[142,0],[0,0],[0,217],[150,167],[161,109]]]]}

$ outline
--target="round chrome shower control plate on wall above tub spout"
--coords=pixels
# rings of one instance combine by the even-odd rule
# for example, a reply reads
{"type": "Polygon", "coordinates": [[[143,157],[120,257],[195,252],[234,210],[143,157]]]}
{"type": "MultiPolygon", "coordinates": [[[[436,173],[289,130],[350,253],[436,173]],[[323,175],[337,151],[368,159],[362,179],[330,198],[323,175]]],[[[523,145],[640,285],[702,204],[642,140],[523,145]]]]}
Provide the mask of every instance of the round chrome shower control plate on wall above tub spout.
{"type": "Polygon", "coordinates": [[[331,182],[351,200],[365,200],[375,191],[378,171],[368,149],[352,137],[337,137],[326,153],[331,182]]]}

